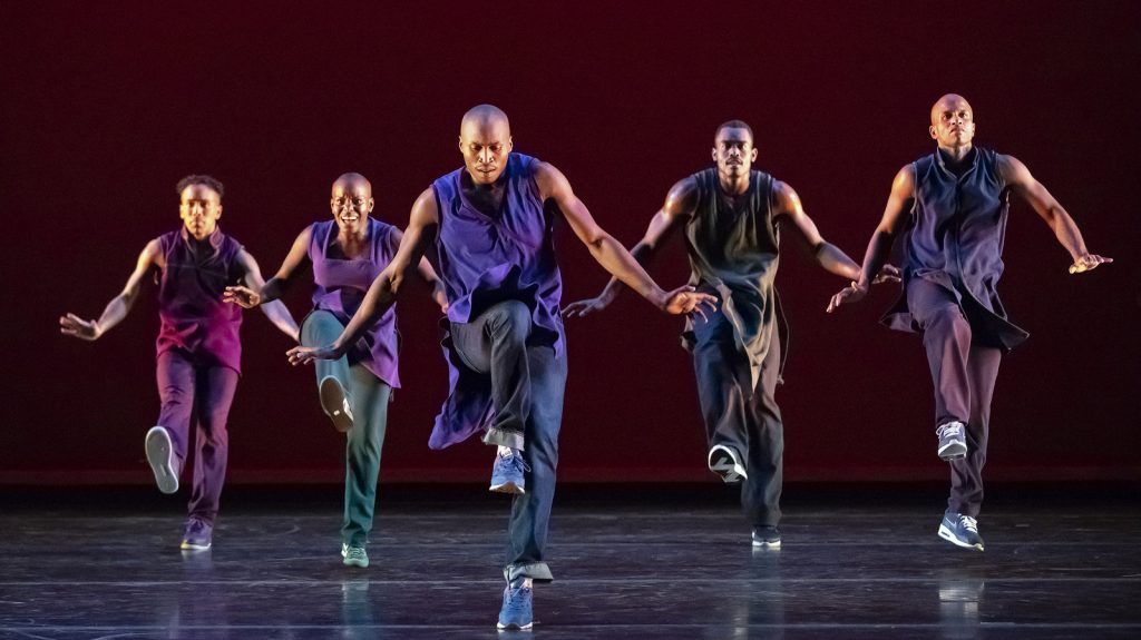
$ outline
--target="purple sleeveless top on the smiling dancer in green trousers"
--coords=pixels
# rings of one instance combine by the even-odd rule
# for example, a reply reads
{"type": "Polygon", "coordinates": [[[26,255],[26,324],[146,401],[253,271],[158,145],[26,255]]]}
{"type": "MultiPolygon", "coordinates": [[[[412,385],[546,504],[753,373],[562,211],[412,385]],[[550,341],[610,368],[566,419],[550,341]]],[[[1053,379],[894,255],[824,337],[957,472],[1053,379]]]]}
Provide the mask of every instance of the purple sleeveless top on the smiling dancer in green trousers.
{"type": "MultiPolygon", "coordinates": [[[[400,243],[396,227],[369,219],[369,252],[355,260],[329,257],[337,241],[337,222],[326,220],[309,227],[309,262],[313,263],[314,311],[327,311],[348,325],[361,306],[372,281],[396,256],[400,243]]],[[[349,364],[362,364],[388,386],[398,388],[396,305],[385,312],[358,340],[347,356],[349,364]]]]}

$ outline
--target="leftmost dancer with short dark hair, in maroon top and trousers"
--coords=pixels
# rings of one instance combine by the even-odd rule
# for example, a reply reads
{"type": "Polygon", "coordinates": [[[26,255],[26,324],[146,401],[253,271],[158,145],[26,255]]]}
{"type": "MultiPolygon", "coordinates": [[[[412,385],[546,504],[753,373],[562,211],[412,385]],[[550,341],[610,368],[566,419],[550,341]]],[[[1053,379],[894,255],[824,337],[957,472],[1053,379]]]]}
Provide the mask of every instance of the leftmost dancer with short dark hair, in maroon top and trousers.
{"type": "MultiPolygon", "coordinates": [[[[68,313],[59,319],[59,330],[84,340],[99,339],[135,306],[143,280],[159,271],[156,347],[162,408],[157,425],[146,434],[146,458],[159,491],[177,492],[195,420],[194,487],[181,548],[204,551],[213,541],[226,479],[226,420],[242,356],[242,310],[222,302],[222,293],[234,282],[260,287],[262,280],[253,256],[218,227],[221,182],[209,175],[187,175],[179,180],[177,191],[181,228],[147,243],[127,286],[98,320],[68,313]]],[[[262,311],[275,327],[297,339],[297,323],[284,305],[267,305],[262,311]]]]}

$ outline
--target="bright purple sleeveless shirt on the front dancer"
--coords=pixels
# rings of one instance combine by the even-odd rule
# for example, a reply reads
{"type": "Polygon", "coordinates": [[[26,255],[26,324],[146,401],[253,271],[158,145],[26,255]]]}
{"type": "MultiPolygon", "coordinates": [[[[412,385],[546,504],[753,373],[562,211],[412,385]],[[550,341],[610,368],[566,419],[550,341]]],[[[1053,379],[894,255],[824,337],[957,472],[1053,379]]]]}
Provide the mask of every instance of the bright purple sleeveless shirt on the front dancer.
{"type": "MultiPolygon", "coordinates": [[[[566,337],[559,301],[563,279],[551,238],[553,212],[543,206],[535,183],[539,161],[510,154],[500,177],[503,204],[487,216],[463,196],[458,169],[432,182],[439,230],[432,266],[447,292],[447,318],[468,322],[499,302],[516,300],[531,309],[528,344],[550,345],[565,356],[566,337]]],[[[493,417],[491,380],[462,364],[445,336],[451,391],[432,429],[428,446],[443,449],[484,430],[493,417]]]]}

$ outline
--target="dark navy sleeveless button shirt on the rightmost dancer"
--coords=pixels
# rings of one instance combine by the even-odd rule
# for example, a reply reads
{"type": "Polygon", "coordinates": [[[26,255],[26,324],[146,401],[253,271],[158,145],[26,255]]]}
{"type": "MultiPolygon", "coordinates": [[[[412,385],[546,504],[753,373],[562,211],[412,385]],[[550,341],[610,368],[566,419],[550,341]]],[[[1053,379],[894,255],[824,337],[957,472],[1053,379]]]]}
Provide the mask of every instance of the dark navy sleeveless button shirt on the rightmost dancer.
{"type": "Polygon", "coordinates": [[[922,278],[955,294],[977,339],[1011,350],[1029,336],[1006,320],[997,284],[1003,272],[1010,192],[998,154],[974,147],[956,177],[936,150],[913,163],[915,204],[901,236],[904,295],[882,322],[900,331],[921,329],[907,307],[907,282],[922,278]]]}

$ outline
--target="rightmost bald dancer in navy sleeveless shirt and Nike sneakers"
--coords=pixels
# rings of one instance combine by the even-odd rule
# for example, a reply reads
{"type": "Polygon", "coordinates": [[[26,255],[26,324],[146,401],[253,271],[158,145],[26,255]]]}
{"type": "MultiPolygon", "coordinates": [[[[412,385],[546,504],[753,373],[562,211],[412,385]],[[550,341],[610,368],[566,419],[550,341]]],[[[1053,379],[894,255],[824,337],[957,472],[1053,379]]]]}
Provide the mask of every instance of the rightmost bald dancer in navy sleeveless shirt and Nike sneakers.
{"type": "Polygon", "coordinates": [[[884,264],[903,231],[904,292],[883,322],[922,334],[934,386],[939,458],[950,463],[950,498],[939,538],[982,551],[978,516],[987,459],[990,400],[1003,352],[1028,336],[998,300],[1006,212],[1026,200],[1069,252],[1070,273],[1111,259],[1086,249],[1062,205],[1013,156],[973,145],[974,112],[948,93],[931,107],[931,155],[904,166],[864,256],[864,276],[828,304],[834,312],[867,295],[867,273],[884,264]]]}

